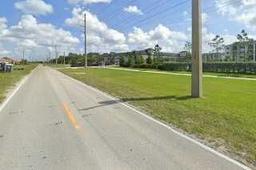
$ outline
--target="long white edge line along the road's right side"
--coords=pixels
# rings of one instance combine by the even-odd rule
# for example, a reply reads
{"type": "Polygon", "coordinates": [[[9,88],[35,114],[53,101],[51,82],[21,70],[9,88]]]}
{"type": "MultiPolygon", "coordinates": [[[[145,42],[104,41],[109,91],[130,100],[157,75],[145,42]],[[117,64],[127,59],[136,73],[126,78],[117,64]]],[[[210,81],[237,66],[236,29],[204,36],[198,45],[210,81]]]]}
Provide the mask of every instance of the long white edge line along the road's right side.
{"type": "MultiPolygon", "coordinates": [[[[62,72],[59,72],[59,73],[62,73],[62,72]]],[[[78,82],[80,85],[82,85],[82,86],[84,86],[84,87],[86,87],[86,88],[89,88],[89,89],[91,89],[91,90],[93,90],[93,91],[95,91],[95,92],[98,92],[98,93],[100,93],[100,94],[103,94],[104,96],[106,96],[106,97],[108,97],[108,98],[110,98],[110,99],[112,99],[112,100],[119,100],[118,98],[113,97],[113,96],[111,96],[110,94],[107,94],[107,93],[105,93],[105,92],[103,92],[103,91],[100,91],[99,89],[97,89],[97,88],[95,88],[95,87],[89,86],[89,85],[87,85],[87,84],[85,84],[85,83],[83,83],[83,82],[81,82],[81,81],[79,81],[79,80],[77,80],[77,79],[74,79],[74,78],[72,78],[72,77],[70,77],[70,76],[68,76],[68,75],[66,75],[66,74],[64,74],[64,73],[62,73],[62,74],[65,75],[65,76],[67,76],[68,78],[72,79],[73,81],[78,82]]],[[[166,124],[164,124],[164,123],[162,123],[162,122],[160,122],[159,120],[156,120],[156,119],[154,119],[153,117],[151,117],[151,116],[149,116],[149,115],[147,115],[147,114],[145,114],[145,113],[143,113],[143,112],[141,112],[141,111],[138,111],[138,110],[135,109],[133,106],[130,106],[130,105],[127,104],[127,103],[122,103],[122,102],[119,102],[119,103],[122,104],[123,106],[125,106],[125,107],[127,107],[127,108],[129,108],[129,109],[131,109],[131,110],[133,110],[133,111],[135,111],[136,113],[142,115],[143,117],[145,117],[145,118],[147,118],[147,119],[149,119],[149,120],[151,120],[151,121],[153,121],[153,122],[155,122],[155,123],[157,123],[157,124],[159,124],[159,125],[161,125],[161,126],[164,126],[165,128],[171,130],[173,133],[177,134],[178,136],[180,136],[180,137],[182,137],[182,138],[185,138],[185,139],[187,139],[188,141],[190,141],[190,142],[192,142],[192,143],[194,143],[194,144],[200,146],[201,148],[203,148],[203,149],[205,149],[205,150],[207,150],[207,151],[209,151],[209,152],[211,152],[211,153],[213,153],[213,154],[215,154],[215,155],[217,155],[217,156],[219,156],[219,157],[221,157],[221,158],[224,158],[224,159],[226,159],[227,161],[229,161],[229,162],[231,162],[231,163],[233,163],[233,164],[235,164],[235,165],[237,165],[237,166],[243,168],[244,170],[251,170],[251,168],[247,167],[246,165],[244,165],[244,164],[242,164],[242,163],[240,163],[240,162],[238,162],[238,161],[236,161],[236,160],[234,160],[234,159],[232,159],[232,158],[230,158],[230,157],[228,157],[228,156],[226,156],[226,155],[224,155],[224,154],[222,154],[222,153],[220,153],[220,152],[214,150],[213,148],[210,148],[209,146],[206,146],[206,145],[203,144],[203,143],[200,143],[199,141],[197,141],[197,140],[195,140],[195,139],[193,139],[193,138],[191,138],[191,137],[189,137],[189,136],[187,136],[187,135],[185,135],[185,134],[183,134],[183,133],[181,133],[181,132],[178,132],[177,130],[173,129],[172,127],[170,127],[170,126],[168,126],[168,125],[166,125],[166,124]]]]}

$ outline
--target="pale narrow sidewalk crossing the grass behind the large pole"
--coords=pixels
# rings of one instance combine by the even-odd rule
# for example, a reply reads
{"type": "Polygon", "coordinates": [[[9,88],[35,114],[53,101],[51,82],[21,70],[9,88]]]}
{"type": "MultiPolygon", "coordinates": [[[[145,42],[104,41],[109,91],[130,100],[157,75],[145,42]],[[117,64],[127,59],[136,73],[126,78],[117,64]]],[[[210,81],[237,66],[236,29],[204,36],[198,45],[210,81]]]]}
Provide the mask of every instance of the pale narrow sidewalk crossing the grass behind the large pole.
{"type": "MultiPolygon", "coordinates": [[[[97,68],[101,69],[101,68],[97,68]]],[[[106,67],[109,70],[121,70],[121,71],[131,71],[131,72],[141,72],[141,73],[153,73],[153,74],[167,74],[167,75],[175,75],[175,76],[187,76],[191,77],[191,74],[186,73],[172,73],[166,71],[144,71],[144,70],[136,70],[136,69],[127,69],[127,68],[111,68],[106,67]]],[[[256,81],[256,78],[246,78],[246,77],[224,77],[224,76],[214,76],[214,75],[203,75],[204,78],[218,78],[218,79],[230,79],[230,80],[247,80],[247,81],[256,81]]]]}

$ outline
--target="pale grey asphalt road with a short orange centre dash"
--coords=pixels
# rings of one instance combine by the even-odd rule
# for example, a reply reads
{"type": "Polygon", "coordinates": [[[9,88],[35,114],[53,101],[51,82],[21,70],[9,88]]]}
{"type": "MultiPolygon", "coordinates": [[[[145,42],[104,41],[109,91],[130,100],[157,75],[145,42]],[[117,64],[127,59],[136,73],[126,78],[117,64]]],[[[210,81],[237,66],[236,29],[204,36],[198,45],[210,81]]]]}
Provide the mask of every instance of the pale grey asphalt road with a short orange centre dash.
{"type": "Polygon", "coordinates": [[[0,113],[2,170],[238,170],[233,161],[48,67],[0,113]]]}

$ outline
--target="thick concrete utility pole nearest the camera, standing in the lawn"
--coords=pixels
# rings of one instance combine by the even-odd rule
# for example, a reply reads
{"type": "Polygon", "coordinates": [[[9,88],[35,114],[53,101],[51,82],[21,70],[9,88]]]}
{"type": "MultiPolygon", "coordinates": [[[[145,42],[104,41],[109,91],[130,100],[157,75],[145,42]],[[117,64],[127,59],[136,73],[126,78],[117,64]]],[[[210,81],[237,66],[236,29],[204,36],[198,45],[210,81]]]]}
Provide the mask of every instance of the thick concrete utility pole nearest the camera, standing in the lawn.
{"type": "Polygon", "coordinates": [[[203,96],[202,90],[202,14],[201,0],[192,0],[192,90],[195,98],[203,96]]]}

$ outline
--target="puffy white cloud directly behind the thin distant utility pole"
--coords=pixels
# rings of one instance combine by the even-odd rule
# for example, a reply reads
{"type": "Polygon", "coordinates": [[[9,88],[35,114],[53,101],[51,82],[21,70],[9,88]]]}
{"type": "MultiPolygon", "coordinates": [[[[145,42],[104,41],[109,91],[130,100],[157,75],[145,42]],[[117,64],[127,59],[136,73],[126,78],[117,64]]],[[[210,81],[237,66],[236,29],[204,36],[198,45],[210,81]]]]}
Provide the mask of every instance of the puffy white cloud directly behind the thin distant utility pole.
{"type": "Polygon", "coordinates": [[[125,44],[125,35],[117,30],[109,28],[100,21],[96,15],[81,8],[73,9],[72,18],[66,19],[65,23],[72,27],[80,28],[83,25],[83,14],[87,14],[87,39],[90,51],[108,52],[128,50],[125,44]]]}

